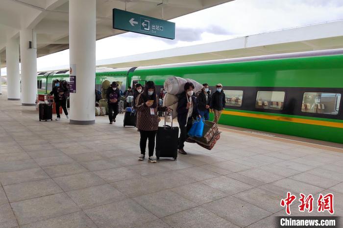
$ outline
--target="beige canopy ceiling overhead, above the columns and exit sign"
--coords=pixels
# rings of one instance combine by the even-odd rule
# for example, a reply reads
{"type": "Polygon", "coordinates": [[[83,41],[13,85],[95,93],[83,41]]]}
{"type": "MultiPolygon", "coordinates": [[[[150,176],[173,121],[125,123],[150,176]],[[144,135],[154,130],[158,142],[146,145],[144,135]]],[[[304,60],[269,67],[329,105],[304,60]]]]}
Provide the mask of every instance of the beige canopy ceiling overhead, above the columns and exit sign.
{"type": "MultiPolygon", "coordinates": [[[[119,8],[171,20],[231,0],[97,0],[97,40],[124,33],[112,28],[112,9],[119,8]],[[161,4],[162,3],[162,4],[161,4]]],[[[80,5],[82,7],[82,5],[80,5]]],[[[19,31],[37,33],[37,57],[69,48],[69,0],[1,0],[0,67],[5,67],[5,46],[19,31]]]]}

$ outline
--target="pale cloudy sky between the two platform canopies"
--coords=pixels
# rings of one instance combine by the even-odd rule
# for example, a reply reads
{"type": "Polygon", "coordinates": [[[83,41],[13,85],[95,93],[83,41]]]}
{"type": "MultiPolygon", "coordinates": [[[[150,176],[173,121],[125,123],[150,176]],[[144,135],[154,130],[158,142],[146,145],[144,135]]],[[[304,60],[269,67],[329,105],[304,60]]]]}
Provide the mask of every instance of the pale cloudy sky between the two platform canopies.
{"type": "MultiPolygon", "coordinates": [[[[96,59],[211,43],[343,20],[343,0],[234,0],[173,20],[175,40],[127,32],[97,41],[96,59]]],[[[37,69],[69,65],[69,50],[37,59],[37,69]]],[[[2,69],[2,74],[5,69],[2,69]]]]}

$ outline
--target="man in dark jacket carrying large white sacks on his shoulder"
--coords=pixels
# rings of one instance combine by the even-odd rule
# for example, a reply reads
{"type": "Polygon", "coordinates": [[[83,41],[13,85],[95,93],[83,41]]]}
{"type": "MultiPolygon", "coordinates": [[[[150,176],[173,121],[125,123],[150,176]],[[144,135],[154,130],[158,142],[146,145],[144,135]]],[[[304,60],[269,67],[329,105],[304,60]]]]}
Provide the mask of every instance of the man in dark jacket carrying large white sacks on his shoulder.
{"type": "Polygon", "coordinates": [[[184,86],[184,91],[179,95],[179,101],[177,104],[177,122],[180,127],[180,137],[178,141],[178,152],[186,155],[186,151],[183,149],[185,141],[188,138],[188,132],[192,127],[193,119],[201,117],[197,108],[196,97],[194,96],[194,84],[187,82],[184,86]]]}

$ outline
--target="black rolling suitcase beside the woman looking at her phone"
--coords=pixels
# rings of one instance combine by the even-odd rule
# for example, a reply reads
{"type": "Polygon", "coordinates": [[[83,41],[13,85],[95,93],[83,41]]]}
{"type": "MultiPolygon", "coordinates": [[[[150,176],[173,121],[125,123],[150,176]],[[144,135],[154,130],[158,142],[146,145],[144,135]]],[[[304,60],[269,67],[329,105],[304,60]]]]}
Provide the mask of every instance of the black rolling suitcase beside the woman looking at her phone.
{"type": "MultiPolygon", "coordinates": [[[[167,116],[167,115],[165,115],[167,116]]],[[[172,124],[171,124],[172,125],[172,124]]],[[[164,119],[164,126],[158,127],[156,134],[156,158],[177,158],[179,128],[166,125],[166,118],[164,119]]]]}

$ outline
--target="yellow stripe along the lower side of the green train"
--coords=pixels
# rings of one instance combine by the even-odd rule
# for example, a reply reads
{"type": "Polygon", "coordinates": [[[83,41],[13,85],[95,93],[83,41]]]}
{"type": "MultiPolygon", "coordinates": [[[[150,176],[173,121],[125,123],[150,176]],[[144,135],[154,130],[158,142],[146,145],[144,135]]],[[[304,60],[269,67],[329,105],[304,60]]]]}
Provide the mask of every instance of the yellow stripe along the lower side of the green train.
{"type": "Polygon", "coordinates": [[[285,117],[285,116],[277,116],[277,115],[266,115],[266,114],[241,113],[241,112],[233,112],[233,111],[223,111],[222,114],[238,115],[238,116],[260,118],[260,119],[279,120],[279,121],[294,122],[294,123],[320,125],[320,126],[325,126],[325,127],[343,128],[343,123],[329,122],[329,121],[323,121],[323,120],[301,119],[301,118],[293,118],[293,117],[285,117]]]}

